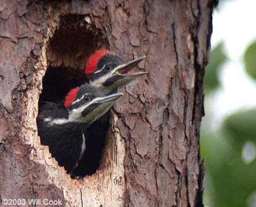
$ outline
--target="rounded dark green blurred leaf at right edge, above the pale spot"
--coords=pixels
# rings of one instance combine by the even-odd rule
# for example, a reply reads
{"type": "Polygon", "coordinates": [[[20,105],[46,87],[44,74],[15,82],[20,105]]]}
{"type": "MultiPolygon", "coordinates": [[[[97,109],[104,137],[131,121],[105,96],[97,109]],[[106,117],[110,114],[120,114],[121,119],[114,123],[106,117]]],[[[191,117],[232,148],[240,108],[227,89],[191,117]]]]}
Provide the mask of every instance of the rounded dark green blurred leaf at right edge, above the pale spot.
{"type": "Polygon", "coordinates": [[[224,121],[224,129],[236,141],[256,140],[256,109],[242,110],[230,115],[224,121]]]}

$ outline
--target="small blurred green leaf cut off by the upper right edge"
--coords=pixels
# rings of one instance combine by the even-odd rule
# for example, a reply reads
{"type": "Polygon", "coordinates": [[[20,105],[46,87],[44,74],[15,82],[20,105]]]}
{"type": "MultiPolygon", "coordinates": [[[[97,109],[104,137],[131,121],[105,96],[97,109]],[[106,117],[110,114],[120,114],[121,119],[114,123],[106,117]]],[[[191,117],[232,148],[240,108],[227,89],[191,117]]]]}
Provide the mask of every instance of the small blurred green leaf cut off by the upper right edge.
{"type": "Polygon", "coordinates": [[[245,71],[256,80],[256,40],[246,49],[243,60],[245,71]]]}

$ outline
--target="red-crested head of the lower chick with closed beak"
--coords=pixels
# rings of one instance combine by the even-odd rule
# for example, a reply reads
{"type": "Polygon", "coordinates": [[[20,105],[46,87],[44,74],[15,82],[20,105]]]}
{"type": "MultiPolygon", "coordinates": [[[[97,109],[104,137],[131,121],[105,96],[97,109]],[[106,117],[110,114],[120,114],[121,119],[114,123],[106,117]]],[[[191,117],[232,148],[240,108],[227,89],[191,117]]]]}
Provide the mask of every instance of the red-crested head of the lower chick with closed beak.
{"type": "Polygon", "coordinates": [[[71,89],[64,103],[69,113],[68,119],[90,124],[101,118],[121,96],[122,93],[106,96],[101,90],[89,84],[71,89]]]}

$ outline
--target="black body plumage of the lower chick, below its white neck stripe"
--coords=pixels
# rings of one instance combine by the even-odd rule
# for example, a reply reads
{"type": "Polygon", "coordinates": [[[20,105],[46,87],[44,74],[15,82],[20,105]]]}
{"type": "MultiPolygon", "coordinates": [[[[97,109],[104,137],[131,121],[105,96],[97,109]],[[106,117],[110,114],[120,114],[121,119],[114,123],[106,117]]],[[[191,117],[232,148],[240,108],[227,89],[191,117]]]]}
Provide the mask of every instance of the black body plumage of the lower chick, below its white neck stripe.
{"type": "MultiPolygon", "coordinates": [[[[48,104],[46,103],[46,105],[48,104]]],[[[51,112],[49,111],[49,113],[51,112]]],[[[65,125],[50,126],[43,119],[40,115],[37,119],[41,144],[49,146],[52,157],[57,160],[60,166],[64,166],[67,173],[71,173],[77,167],[80,156],[83,154],[81,149],[82,133],[87,124],[65,123],[65,125]]]]}

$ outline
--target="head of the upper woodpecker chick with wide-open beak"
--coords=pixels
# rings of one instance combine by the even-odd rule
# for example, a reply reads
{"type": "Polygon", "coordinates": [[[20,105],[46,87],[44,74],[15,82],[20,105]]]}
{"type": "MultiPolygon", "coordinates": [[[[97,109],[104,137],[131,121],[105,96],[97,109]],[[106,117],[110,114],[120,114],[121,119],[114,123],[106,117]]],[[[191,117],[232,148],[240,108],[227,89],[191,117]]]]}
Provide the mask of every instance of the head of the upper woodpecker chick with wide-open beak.
{"type": "Polygon", "coordinates": [[[99,50],[89,57],[85,73],[89,77],[90,85],[108,94],[146,74],[147,72],[129,73],[145,58],[143,56],[125,63],[114,52],[99,50]]]}

